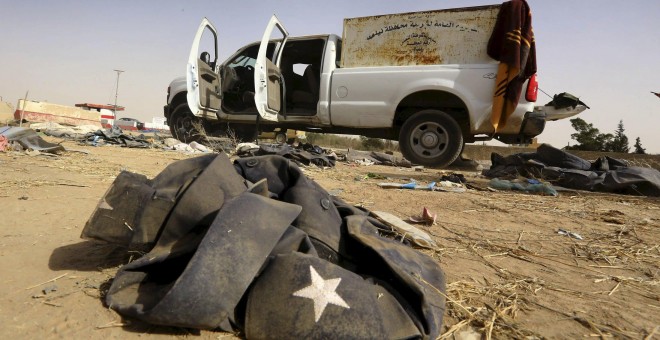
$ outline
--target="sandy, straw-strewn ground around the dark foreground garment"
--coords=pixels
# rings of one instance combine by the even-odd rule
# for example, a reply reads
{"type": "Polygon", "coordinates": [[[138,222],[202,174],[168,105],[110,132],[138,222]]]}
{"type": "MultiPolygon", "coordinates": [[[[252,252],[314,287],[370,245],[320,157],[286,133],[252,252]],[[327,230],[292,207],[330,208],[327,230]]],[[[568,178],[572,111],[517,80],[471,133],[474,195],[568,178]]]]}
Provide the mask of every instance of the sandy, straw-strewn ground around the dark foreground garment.
{"type": "MultiPolygon", "coordinates": [[[[79,238],[121,170],[155,176],[190,157],[162,150],[86,147],[59,157],[0,153],[0,338],[224,338],[228,333],[124,320],[101,297],[128,259],[79,238]]],[[[381,189],[388,181],[437,180],[445,171],[385,166],[306,170],[341,198],[401,218],[423,207],[425,251],[444,268],[445,336],[660,338],[660,200],[585,192],[545,197],[381,189]],[[557,233],[578,233],[577,240],[557,233]],[[655,334],[653,335],[653,333],[655,334]]],[[[477,173],[462,171],[484,186],[477,173]]]]}

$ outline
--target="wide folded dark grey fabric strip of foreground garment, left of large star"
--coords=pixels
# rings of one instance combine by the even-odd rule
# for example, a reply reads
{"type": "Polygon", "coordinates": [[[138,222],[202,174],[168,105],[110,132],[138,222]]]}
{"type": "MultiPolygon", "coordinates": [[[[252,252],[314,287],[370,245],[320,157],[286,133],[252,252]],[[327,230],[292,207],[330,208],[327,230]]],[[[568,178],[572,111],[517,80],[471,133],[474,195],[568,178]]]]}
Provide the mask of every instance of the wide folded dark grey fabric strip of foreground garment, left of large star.
{"type": "Polygon", "coordinates": [[[108,291],[108,305],[154,324],[232,331],[243,293],[299,212],[299,206],[251,193],[230,199],[196,249],[171,254],[165,241],[124,266],[108,291]],[[178,276],[164,273],[167,263],[187,258],[178,276]],[[141,294],[147,287],[149,293],[141,294]],[[145,295],[160,298],[145,301],[145,295]]]}

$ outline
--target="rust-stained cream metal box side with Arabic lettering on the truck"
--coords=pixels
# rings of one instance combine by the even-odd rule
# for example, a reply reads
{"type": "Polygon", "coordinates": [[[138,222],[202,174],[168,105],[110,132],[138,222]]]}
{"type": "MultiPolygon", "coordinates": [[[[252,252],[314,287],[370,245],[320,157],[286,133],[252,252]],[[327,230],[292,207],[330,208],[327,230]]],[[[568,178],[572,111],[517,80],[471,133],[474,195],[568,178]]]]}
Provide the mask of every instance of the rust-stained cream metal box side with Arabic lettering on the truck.
{"type": "Polygon", "coordinates": [[[483,64],[500,5],[344,19],[342,67],[483,64]]]}

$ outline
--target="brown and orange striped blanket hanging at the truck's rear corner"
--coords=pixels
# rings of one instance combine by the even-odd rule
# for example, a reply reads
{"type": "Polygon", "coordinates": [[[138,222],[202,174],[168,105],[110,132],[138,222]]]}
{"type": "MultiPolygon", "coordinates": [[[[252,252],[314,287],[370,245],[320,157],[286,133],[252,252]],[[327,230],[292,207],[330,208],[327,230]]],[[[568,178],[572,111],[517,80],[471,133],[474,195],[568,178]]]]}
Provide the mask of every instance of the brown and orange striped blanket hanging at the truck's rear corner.
{"type": "Polygon", "coordinates": [[[491,118],[495,132],[498,132],[518,105],[523,84],[536,73],[532,12],[525,0],[502,4],[487,52],[500,62],[491,118]]]}

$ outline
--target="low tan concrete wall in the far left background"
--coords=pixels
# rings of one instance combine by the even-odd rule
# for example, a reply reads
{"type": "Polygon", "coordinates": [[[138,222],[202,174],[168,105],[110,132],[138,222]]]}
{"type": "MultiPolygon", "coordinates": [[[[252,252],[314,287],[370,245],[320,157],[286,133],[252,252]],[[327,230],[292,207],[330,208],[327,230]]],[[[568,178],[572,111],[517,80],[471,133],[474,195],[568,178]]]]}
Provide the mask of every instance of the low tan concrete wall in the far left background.
{"type": "Polygon", "coordinates": [[[29,122],[55,122],[66,125],[98,125],[101,126],[101,114],[97,111],[87,111],[75,106],[66,106],[28,100],[23,107],[23,99],[18,101],[15,119],[29,122]]]}

